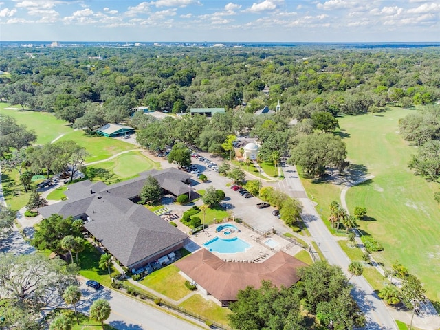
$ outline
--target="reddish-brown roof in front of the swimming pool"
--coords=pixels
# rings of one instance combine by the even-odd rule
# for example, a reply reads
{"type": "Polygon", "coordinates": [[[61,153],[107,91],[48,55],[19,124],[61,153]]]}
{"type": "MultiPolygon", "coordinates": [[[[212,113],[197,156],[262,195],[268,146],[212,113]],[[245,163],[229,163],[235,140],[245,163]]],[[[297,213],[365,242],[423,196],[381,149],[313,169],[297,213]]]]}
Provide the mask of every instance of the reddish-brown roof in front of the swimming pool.
{"type": "Polygon", "coordinates": [[[300,280],[296,271],[306,263],[279,251],[263,263],[235,263],[221,260],[201,249],[175,264],[218,300],[236,300],[240,289],[258,289],[261,281],[270,280],[277,287],[290,287],[300,280]]]}

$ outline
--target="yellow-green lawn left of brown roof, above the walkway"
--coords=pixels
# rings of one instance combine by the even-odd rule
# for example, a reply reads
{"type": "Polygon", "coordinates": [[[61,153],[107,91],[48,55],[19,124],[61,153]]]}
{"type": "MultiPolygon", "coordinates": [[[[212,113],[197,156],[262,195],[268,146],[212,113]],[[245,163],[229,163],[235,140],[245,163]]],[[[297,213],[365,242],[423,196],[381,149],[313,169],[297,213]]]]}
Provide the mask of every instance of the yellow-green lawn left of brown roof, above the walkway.
{"type": "Polygon", "coordinates": [[[179,300],[190,294],[185,281],[185,278],[179,274],[179,268],[168,265],[149,274],[140,283],[173,300],[179,300]]]}

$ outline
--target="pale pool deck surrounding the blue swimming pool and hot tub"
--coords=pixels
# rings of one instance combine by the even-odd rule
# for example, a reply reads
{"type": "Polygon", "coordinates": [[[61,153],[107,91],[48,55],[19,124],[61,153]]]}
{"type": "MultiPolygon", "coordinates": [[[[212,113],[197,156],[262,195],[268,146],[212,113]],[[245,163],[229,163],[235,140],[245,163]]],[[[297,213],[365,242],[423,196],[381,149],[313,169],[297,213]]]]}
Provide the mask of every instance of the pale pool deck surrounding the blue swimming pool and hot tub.
{"type": "Polygon", "coordinates": [[[200,248],[203,248],[203,244],[214,239],[214,237],[232,239],[232,237],[239,237],[246,243],[249,243],[250,248],[246,249],[245,252],[236,252],[236,253],[219,253],[212,251],[213,254],[223,259],[224,261],[234,261],[234,262],[248,262],[248,263],[261,263],[265,261],[270,256],[274,255],[276,252],[283,250],[284,252],[294,256],[298,253],[301,248],[294,243],[291,243],[282,237],[276,234],[270,234],[268,236],[261,236],[256,232],[245,228],[243,225],[239,223],[230,223],[236,228],[239,228],[239,232],[232,232],[229,235],[225,235],[222,232],[215,232],[216,228],[219,225],[224,225],[226,223],[218,223],[217,225],[210,225],[209,228],[206,228],[203,232],[198,232],[195,235],[190,236],[192,242],[199,245],[200,248]],[[274,242],[272,245],[274,248],[271,248],[269,245],[266,245],[264,242],[271,239],[274,242]]]}

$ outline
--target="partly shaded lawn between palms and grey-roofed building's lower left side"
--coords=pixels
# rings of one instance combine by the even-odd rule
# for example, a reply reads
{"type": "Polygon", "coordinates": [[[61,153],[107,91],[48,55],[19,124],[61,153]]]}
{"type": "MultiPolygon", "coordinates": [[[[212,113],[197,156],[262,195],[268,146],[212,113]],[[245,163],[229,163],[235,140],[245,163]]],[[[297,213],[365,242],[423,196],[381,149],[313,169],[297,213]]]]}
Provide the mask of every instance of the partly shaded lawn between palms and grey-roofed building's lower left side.
{"type": "MultiPolygon", "coordinates": [[[[99,261],[101,254],[96,248],[94,248],[91,243],[87,242],[85,245],[85,250],[78,254],[80,275],[89,278],[91,280],[98,281],[106,287],[110,287],[111,279],[107,269],[101,270],[99,267],[99,261]]],[[[75,257],[74,257],[75,260],[75,257]]],[[[111,276],[116,276],[119,274],[116,270],[111,267],[111,276]]]]}

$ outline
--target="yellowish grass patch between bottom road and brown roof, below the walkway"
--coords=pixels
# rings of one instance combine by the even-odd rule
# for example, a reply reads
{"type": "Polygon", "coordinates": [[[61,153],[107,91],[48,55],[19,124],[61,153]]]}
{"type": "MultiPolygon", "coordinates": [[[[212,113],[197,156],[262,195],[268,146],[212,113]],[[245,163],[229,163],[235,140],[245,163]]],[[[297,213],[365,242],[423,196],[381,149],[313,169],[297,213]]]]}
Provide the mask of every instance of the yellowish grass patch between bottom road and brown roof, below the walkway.
{"type": "Polygon", "coordinates": [[[232,312],[228,308],[222,308],[211,300],[206,300],[199,294],[195,294],[184,300],[179,307],[191,311],[194,314],[201,315],[209,320],[228,325],[228,314],[232,312]]]}

